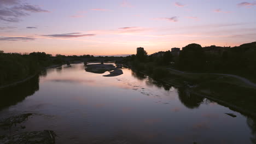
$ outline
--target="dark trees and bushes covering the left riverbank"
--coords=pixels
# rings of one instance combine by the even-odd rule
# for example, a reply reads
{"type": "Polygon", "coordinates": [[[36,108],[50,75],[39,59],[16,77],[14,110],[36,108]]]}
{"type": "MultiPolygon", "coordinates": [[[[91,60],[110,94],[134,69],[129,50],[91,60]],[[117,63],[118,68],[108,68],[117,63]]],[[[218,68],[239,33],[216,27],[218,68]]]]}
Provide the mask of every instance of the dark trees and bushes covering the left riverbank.
{"type": "Polygon", "coordinates": [[[50,57],[44,52],[32,52],[29,55],[0,53],[0,86],[25,79],[48,65],[61,63],[50,57]]]}

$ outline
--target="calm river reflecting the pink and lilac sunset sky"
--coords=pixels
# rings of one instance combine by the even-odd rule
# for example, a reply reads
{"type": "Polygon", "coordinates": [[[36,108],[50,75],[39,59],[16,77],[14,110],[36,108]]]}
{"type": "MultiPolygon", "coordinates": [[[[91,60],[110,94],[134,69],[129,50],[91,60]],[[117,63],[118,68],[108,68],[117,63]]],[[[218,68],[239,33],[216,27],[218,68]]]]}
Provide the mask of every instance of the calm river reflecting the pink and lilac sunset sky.
{"type": "Polygon", "coordinates": [[[37,113],[25,129],[54,130],[56,143],[253,143],[253,119],[130,69],[103,77],[83,64],[48,69],[4,89],[0,118],[37,113]],[[234,113],[231,117],[225,113],[234,113]]]}

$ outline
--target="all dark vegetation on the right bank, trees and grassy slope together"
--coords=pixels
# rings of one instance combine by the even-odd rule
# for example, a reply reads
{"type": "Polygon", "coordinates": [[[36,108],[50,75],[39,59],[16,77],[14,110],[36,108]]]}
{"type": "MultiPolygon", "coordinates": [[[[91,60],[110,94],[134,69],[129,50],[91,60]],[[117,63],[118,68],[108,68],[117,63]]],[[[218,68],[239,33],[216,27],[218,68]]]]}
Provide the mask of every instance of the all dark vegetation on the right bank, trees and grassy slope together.
{"type": "MultiPolygon", "coordinates": [[[[146,52],[145,52],[146,53],[146,52]]],[[[142,71],[156,80],[164,81],[183,89],[180,93],[191,92],[216,101],[224,101],[228,106],[256,116],[256,88],[245,81],[220,74],[235,74],[256,81],[256,42],[237,47],[228,47],[223,52],[206,52],[199,44],[183,47],[179,56],[170,51],[158,52],[139,61],[135,55],[125,58],[125,63],[142,71]],[[182,71],[191,71],[181,73],[182,71]],[[208,73],[208,74],[207,74],[208,73]],[[231,106],[232,105],[232,106],[231,106]]],[[[201,101],[200,97],[195,97],[201,101]]],[[[185,101],[188,101],[184,99],[185,101]]],[[[191,105],[190,107],[196,107],[191,105]]]]}

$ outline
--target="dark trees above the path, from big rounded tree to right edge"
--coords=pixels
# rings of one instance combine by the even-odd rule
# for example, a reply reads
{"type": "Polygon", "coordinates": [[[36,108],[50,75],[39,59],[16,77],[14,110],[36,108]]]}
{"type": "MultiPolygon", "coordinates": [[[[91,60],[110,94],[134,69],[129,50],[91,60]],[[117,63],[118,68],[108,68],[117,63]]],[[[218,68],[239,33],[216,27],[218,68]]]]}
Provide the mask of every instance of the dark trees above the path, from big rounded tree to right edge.
{"type": "MultiPolygon", "coordinates": [[[[213,48],[214,49],[214,48],[213,48]]],[[[223,52],[205,52],[198,44],[183,47],[175,68],[200,73],[235,74],[256,82],[256,42],[230,47],[223,52]]]]}

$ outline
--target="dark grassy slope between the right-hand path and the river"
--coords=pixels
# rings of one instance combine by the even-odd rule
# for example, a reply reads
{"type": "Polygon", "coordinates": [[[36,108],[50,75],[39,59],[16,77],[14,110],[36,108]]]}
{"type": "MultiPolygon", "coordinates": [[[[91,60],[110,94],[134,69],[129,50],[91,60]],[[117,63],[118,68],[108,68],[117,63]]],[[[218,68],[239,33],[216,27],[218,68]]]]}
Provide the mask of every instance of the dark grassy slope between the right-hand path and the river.
{"type": "Polygon", "coordinates": [[[236,110],[247,116],[256,117],[255,83],[235,75],[195,74],[164,66],[144,64],[143,74],[174,87],[185,87],[190,94],[199,95],[236,110]]]}

